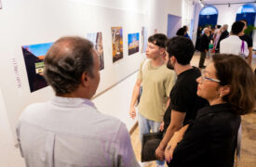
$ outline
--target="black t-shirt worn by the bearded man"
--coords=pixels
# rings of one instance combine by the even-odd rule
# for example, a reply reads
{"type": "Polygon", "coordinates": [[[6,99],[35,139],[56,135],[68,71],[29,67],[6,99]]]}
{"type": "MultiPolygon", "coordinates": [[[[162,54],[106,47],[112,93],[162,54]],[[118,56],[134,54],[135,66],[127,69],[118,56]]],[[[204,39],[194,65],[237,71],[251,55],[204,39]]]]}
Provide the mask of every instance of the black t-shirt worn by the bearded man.
{"type": "Polygon", "coordinates": [[[208,101],[196,95],[197,83],[196,78],[201,76],[199,69],[183,71],[178,75],[177,82],[172,87],[169,97],[170,103],[164,115],[165,131],[170,122],[171,109],[186,112],[183,124],[190,120],[195,120],[195,115],[198,109],[208,105],[208,101]]]}

